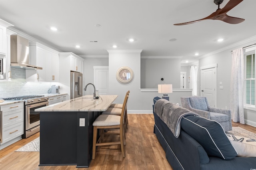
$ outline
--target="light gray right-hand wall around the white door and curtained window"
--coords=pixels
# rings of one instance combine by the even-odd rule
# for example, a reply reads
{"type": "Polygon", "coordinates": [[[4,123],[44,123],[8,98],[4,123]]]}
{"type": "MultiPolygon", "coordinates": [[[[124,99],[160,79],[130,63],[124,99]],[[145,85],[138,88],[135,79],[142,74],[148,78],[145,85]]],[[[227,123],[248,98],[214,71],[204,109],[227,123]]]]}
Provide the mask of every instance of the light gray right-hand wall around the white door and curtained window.
{"type": "MultiPolygon", "coordinates": [[[[214,63],[218,64],[217,67],[217,107],[225,109],[230,108],[230,76],[231,76],[231,65],[232,65],[232,53],[234,49],[246,47],[252,45],[256,41],[244,43],[236,47],[226,49],[224,51],[215,53],[208,57],[204,57],[199,60],[199,71],[200,67],[212,65],[214,63]],[[219,83],[222,81],[223,89],[219,89],[219,83]]],[[[199,91],[200,89],[200,74],[199,74],[199,91]]],[[[256,126],[256,111],[244,109],[244,119],[245,123],[249,125],[256,126]]]]}

